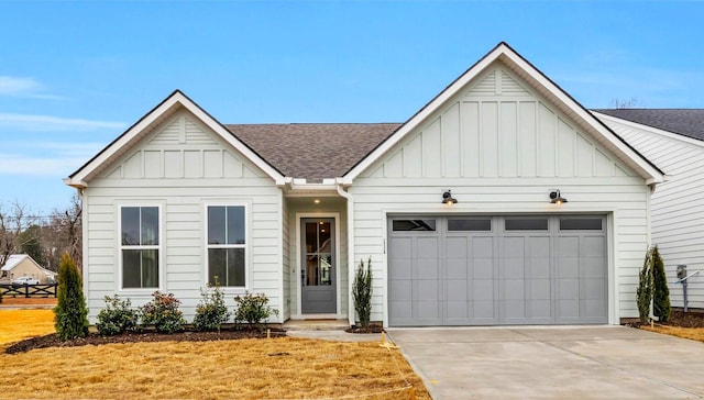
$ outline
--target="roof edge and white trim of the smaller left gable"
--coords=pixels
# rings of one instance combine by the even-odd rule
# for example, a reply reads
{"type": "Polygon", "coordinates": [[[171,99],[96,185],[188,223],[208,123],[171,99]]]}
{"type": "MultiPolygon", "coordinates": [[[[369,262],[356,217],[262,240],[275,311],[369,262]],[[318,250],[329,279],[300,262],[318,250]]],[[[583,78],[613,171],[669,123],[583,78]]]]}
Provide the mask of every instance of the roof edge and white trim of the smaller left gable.
{"type": "Polygon", "coordinates": [[[94,158],[86,163],[82,167],[72,174],[68,178],[64,179],[64,182],[68,186],[85,188],[88,182],[105,170],[108,166],[114,163],[120,156],[125,154],[130,148],[134,147],[142,138],[147,135],[151,130],[158,124],[163,123],[172,114],[179,109],[188,110],[196,116],[204,125],[212,130],[223,141],[232,145],[238,152],[249,158],[260,169],[264,171],[268,177],[274,179],[277,185],[283,185],[285,179],[284,175],[278,171],[274,166],[267,163],[252,148],[250,148],[242,141],[237,138],[230,131],[228,131],[220,122],[208,114],[204,109],[190,100],[180,90],[175,90],[158,105],[142,116],[135,124],[130,126],[124,133],[118,136],[106,148],[98,153],[94,158]]]}

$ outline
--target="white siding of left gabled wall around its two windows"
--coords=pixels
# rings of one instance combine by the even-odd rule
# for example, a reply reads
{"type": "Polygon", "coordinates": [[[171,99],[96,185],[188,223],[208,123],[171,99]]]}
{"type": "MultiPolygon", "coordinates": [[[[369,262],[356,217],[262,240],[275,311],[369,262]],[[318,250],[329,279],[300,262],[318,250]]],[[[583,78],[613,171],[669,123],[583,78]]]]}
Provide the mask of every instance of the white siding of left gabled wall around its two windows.
{"type": "MultiPolygon", "coordinates": [[[[90,180],[84,197],[85,279],[91,322],[103,297],[120,295],[133,305],[152,299],[154,289],[120,287],[119,210],[158,205],[160,290],[173,292],[190,322],[207,284],[206,207],[246,207],[246,290],[265,293],[283,310],[282,191],[232,146],[186,111],[177,112],[139,145],[90,180]]],[[[227,302],[244,289],[227,288],[227,302]]]]}

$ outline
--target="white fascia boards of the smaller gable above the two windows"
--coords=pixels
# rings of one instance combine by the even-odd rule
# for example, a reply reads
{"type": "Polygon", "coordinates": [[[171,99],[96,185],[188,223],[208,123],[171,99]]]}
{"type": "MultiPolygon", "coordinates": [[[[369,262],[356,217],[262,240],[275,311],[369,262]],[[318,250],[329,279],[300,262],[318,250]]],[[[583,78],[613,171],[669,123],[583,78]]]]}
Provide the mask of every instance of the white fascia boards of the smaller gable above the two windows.
{"type": "Polygon", "coordinates": [[[286,179],[282,174],[279,174],[271,165],[264,162],[262,157],[252,152],[248,146],[245,146],[242,142],[234,137],[232,133],[226,130],[224,126],[222,126],[218,121],[216,121],[199,105],[194,103],[178,90],[169,96],[166,100],[164,100],[148,114],[144,115],[138,123],[132,125],[125,133],[118,137],[118,140],[116,140],[113,143],[108,145],[108,147],[106,147],[101,153],[98,154],[98,156],[91,159],[81,169],[72,175],[69,178],[64,179],[64,182],[73,187],[87,187],[87,181],[89,180],[87,178],[90,177],[94,171],[96,171],[105,163],[108,163],[110,159],[112,159],[112,157],[114,157],[120,152],[120,149],[128,146],[132,141],[134,141],[136,136],[139,136],[144,130],[148,129],[150,125],[157,121],[162,115],[168,113],[170,110],[179,105],[184,107],[190,113],[196,115],[196,118],[198,118],[206,126],[220,135],[238,152],[242,153],[266,175],[274,179],[276,185],[280,186],[286,184],[286,179]]]}

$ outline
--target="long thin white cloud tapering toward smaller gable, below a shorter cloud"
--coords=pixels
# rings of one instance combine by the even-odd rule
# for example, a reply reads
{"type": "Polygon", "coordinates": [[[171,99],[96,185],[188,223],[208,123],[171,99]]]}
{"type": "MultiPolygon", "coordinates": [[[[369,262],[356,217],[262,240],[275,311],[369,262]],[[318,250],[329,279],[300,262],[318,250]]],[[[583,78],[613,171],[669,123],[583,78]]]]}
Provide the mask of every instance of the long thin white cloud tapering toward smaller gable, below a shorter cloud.
{"type": "Polygon", "coordinates": [[[97,130],[120,130],[123,122],[95,121],[84,119],[61,118],[52,115],[0,113],[0,130],[18,130],[24,132],[87,132],[97,130]]]}

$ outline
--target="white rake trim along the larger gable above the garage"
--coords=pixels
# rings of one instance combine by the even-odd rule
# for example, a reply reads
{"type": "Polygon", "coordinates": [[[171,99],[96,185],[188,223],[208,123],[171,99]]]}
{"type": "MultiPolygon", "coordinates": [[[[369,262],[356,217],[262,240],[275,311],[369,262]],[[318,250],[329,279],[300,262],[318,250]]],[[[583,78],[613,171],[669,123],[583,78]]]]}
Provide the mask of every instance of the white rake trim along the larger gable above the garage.
{"type": "MultiPolygon", "coordinates": [[[[661,182],[664,174],[653,164],[647,160],[635,148],[632,148],[623,138],[616,135],[604,123],[597,120],[591,112],[584,109],[570,95],[564,92],[560,87],[552,82],[547,76],[534,67],[528,60],[522,58],[518,53],[510,48],[506,43],[499,43],[494,49],[486,54],[476,64],[470,67],[464,74],[450,84],[444,90],[436,96],[422,109],[414,114],[406,123],[404,123],[396,132],[385,142],[381,143],[365,158],[360,160],[341,181],[351,185],[352,181],[364,170],[370,168],[384,154],[389,152],[397,143],[406,137],[411,131],[415,131],[428,123],[429,118],[436,114],[440,109],[455,97],[458,93],[466,90],[471,82],[475,82],[477,77],[490,68],[494,63],[501,62],[513,74],[520,77],[530,89],[544,97],[550,103],[554,104],[558,110],[574,121],[582,130],[591,134],[596,141],[605,146],[609,152],[616,155],[628,167],[632,168],[648,184],[661,182]]],[[[486,78],[484,78],[486,79],[486,78]]],[[[477,87],[481,87],[479,85],[477,87]]],[[[520,92],[525,88],[518,86],[514,90],[520,92]]]]}

